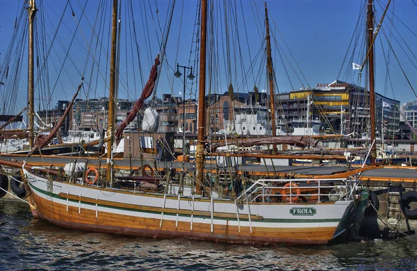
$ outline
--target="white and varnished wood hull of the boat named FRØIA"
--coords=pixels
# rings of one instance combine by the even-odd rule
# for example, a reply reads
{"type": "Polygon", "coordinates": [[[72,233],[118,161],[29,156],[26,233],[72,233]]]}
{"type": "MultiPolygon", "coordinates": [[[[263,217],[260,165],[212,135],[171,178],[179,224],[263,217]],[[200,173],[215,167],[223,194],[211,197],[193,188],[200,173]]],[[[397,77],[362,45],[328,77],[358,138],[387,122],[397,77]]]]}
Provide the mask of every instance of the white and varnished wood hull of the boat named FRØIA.
{"type": "Polygon", "coordinates": [[[40,219],[70,229],[129,236],[185,237],[228,243],[325,244],[345,231],[338,226],[352,204],[350,201],[236,204],[225,200],[193,200],[47,181],[25,173],[40,219]],[[291,210],[306,213],[292,215],[291,210]]]}

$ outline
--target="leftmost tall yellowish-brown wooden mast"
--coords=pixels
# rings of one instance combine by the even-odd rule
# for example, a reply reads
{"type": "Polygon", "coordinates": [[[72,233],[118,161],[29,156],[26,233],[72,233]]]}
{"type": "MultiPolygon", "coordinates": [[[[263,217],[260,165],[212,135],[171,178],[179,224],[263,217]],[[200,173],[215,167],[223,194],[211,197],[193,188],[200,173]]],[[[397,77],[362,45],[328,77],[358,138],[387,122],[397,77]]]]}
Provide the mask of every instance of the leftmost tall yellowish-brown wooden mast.
{"type": "Polygon", "coordinates": [[[33,141],[35,140],[35,134],[33,132],[33,85],[34,85],[34,73],[33,73],[33,21],[36,14],[35,0],[29,0],[28,7],[28,19],[29,19],[29,44],[28,44],[28,124],[29,124],[29,147],[33,147],[33,141]]]}

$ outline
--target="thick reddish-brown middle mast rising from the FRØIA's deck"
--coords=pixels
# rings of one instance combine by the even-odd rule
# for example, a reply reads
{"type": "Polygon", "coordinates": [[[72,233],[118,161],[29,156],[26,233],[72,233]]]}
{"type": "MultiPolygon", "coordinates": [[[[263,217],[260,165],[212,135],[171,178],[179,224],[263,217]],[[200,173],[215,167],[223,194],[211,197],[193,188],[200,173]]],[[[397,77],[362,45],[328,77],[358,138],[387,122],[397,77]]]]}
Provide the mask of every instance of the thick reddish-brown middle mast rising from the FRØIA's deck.
{"type": "Polygon", "coordinates": [[[195,192],[201,193],[204,178],[204,126],[206,125],[206,36],[207,36],[207,0],[202,0],[202,18],[200,33],[200,67],[198,92],[198,131],[195,160],[197,161],[197,183],[195,192]]]}

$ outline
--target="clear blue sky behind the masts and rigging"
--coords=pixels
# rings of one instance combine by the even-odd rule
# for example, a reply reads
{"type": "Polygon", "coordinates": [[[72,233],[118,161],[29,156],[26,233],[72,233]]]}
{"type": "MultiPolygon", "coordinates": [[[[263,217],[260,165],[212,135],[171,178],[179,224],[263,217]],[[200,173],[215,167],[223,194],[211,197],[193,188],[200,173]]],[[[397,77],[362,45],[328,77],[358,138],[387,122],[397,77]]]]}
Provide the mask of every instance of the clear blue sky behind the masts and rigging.
{"type": "MultiPolygon", "coordinates": [[[[100,2],[106,6],[103,17],[106,21],[102,22],[106,26],[104,27],[106,35],[103,35],[105,38],[100,40],[101,44],[96,47],[99,48],[98,51],[100,54],[95,54],[96,64],[99,61],[98,56],[101,55],[99,64],[101,72],[97,75],[97,69],[92,64],[92,52],[90,51],[89,54],[86,51],[90,40],[94,40],[91,39],[91,26],[94,24],[99,2],[72,0],[69,2],[70,5],[67,6],[67,11],[63,15],[63,24],[60,26],[58,38],[56,38],[54,49],[51,50],[50,54],[49,79],[51,83],[49,92],[41,94],[35,103],[47,104],[46,101],[50,99],[50,105],[54,106],[58,99],[71,99],[72,94],[76,90],[76,86],[81,81],[81,74],[84,74],[86,81],[81,98],[85,99],[87,96],[90,98],[102,97],[106,95],[107,83],[104,82],[108,82],[108,76],[106,75],[108,74],[108,69],[106,69],[106,61],[104,60],[106,54],[108,54],[106,37],[108,36],[107,26],[111,17],[110,2],[100,2]],[[85,14],[83,15],[81,10],[85,3],[86,8],[85,14]],[[71,9],[74,10],[76,19],[72,17],[71,9]],[[72,40],[77,22],[80,22],[80,24],[76,31],[76,38],[69,50],[68,58],[65,60],[65,65],[63,65],[64,68],[60,72],[60,79],[57,80],[57,74],[60,71],[63,59],[65,59],[67,47],[72,40]],[[85,65],[85,59],[88,59],[88,65],[85,65]],[[95,69],[94,75],[90,75],[93,67],[95,69]]],[[[364,78],[359,81],[357,71],[352,71],[352,61],[359,64],[363,61],[363,41],[359,40],[354,54],[352,53],[352,48],[348,51],[348,46],[354,34],[355,26],[357,26],[359,13],[364,2],[359,0],[267,1],[272,35],[272,57],[274,59],[279,92],[288,92],[293,88],[299,89],[302,85],[314,87],[317,83],[331,83],[336,79],[340,71],[341,75],[338,79],[349,81],[350,83],[365,83],[364,78]],[[281,38],[279,33],[284,38],[281,38]],[[281,47],[281,49],[277,49],[277,46],[281,47]],[[287,46],[289,50],[286,48],[287,46]],[[347,60],[343,63],[345,56],[347,60]],[[285,65],[282,65],[282,62],[285,65]],[[295,63],[297,63],[300,69],[295,67],[295,63]],[[293,68],[297,69],[296,73],[292,72],[293,68]],[[304,76],[305,80],[298,80],[304,76]]],[[[382,15],[382,9],[386,2],[387,0],[375,1],[377,19],[382,15]]],[[[20,13],[22,3],[23,1],[16,0],[0,1],[0,35],[2,37],[2,42],[0,43],[0,62],[3,62],[5,59],[8,43],[13,34],[15,19],[20,13]]],[[[46,43],[48,44],[54,35],[54,29],[58,25],[67,1],[38,0],[37,3],[42,3],[43,14],[46,14],[45,22],[47,26],[45,29],[47,29],[47,38],[45,40],[47,40],[46,43]]],[[[131,42],[129,41],[124,43],[124,38],[126,38],[125,33],[129,33],[129,28],[132,28],[132,24],[123,24],[121,36],[122,47],[120,49],[120,76],[122,79],[119,85],[119,97],[128,99],[138,97],[142,88],[142,81],[140,81],[140,74],[138,72],[139,58],[136,52],[138,50],[140,51],[140,67],[143,71],[143,80],[146,81],[153,59],[160,51],[158,49],[158,38],[161,39],[162,35],[157,34],[159,31],[158,18],[160,19],[161,28],[163,28],[167,22],[168,7],[171,1],[132,1],[132,3],[138,47],[131,47],[131,42]],[[156,8],[158,8],[158,14],[156,13],[156,8]],[[144,10],[147,10],[146,14],[144,10]],[[147,24],[144,24],[142,20],[145,16],[148,19],[147,24]]],[[[197,54],[194,52],[195,44],[192,43],[196,39],[193,35],[193,31],[195,31],[196,3],[197,1],[195,0],[177,0],[177,6],[174,8],[172,18],[172,27],[167,41],[165,63],[161,69],[158,88],[156,90],[158,97],[161,97],[162,93],[172,93],[173,95],[181,96],[179,93],[182,92],[183,83],[181,80],[174,79],[173,77],[174,68],[177,63],[186,66],[192,65],[194,67],[194,75],[197,75],[197,65],[193,62],[197,54]],[[190,53],[190,51],[193,52],[190,53]],[[189,62],[189,60],[191,61],[189,62]]],[[[212,76],[213,91],[222,93],[227,90],[229,83],[232,83],[234,90],[238,92],[251,91],[254,84],[259,89],[266,89],[265,56],[258,54],[265,46],[263,44],[263,35],[265,33],[263,24],[264,2],[249,0],[237,1],[236,17],[233,17],[234,15],[228,15],[229,22],[233,18],[237,22],[237,24],[231,23],[229,25],[230,58],[224,58],[224,56],[227,56],[227,53],[224,51],[220,52],[220,50],[227,47],[227,43],[225,42],[225,35],[222,35],[226,31],[224,28],[226,19],[224,18],[224,13],[222,13],[224,7],[220,7],[218,4],[227,3],[230,7],[231,4],[234,5],[235,1],[215,1],[213,3],[216,13],[215,20],[217,20],[215,28],[215,35],[217,36],[215,38],[219,38],[222,44],[222,46],[219,45],[216,47],[218,50],[213,53],[218,59],[218,63],[211,66],[212,68],[214,67],[212,76]],[[236,33],[239,33],[239,36],[236,33]],[[251,63],[253,69],[250,67],[251,63]],[[250,70],[251,72],[249,72],[250,70]]],[[[126,10],[127,6],[123,2],[122,10],[126,10]]],[[[417,6],[414,0],[393,0],[382,26],[382,28],[386,28],[386,31],[388,31],[389,27],[393,29],[393,26],[389,22],[389,20],[393,20],[396,27],[394,29],[398,31],[398,34],[393,35],[393,37],[395,36],[395,38],[400,40],[399,43],[402,45],[400,47],[400,44],[397,44],[393,37],[391,37],[391,43],[395,48],[398,61],[408,76],[416,74],[416,67],[414,65],[416,65],[417,61],[415,56],[410,56],[410,60],[407,58],[407,55],[410,54],[404,54],[402,50],[406,47],[402,39],[407,42],[410,48],[416,48],[417,38],[415,33],[417,32],[417,24],[414,20],[416,11],[417,6]],[[393,17],[392,11],[398,17],[393,17]]],[[[40,15],[42,13],[38,13],[38,19],[40,19],[40,15]]],[[[129,22],[129,16],[129,13],[123,11],[122,22],[129,22]]],[[[359,22],[359,27],[363,28],[364,24],[365,22],[359,22]]],[[[379,37],[386,40],[382,32],[380,32],[379,37]]],[[[93,44],[95,44],[94,42],[93,44]]],[[[389,67],[394,90],[386,88],[386,85],[389,84],[386,83],[386,65],[384,55],[381,54],[382,43],[377,40],[375,44],[375,79],[377,92],[402,102],[417,99],[407,81],[404,79],[404,75],[396,63],[397,60],[395,60],[393,54],[390,56],[389,67]]],[[[384,50],[388,49],[387,45],[384,45],[383,48],[384,50]]],[[[404,50],[407,51],[407,48],[404,50]]],[[[385,56],[388,56],[387,51],[385,56]]],[[[3,74],[3,71],[1,72],[3,74]]],[[[181,70],[181,72],[183,71],[181,70]]],[[[21,79],[22,82],[19,83],[19,95],[15,103],[16,111],[23,108],[26,101],[25,70],[22,72],[21,79]]],[[[415,78],[411,77],[409,80],[411,83],[417,83],[415,78]]],[[[187,81],[187,89],[187,97],[193,97],[197,89],[196,81],[193,82],[193,85],[187,81]]],[[[7,91],[5,87],[0,86],[0,96],[5,91],[7,91]]]]}

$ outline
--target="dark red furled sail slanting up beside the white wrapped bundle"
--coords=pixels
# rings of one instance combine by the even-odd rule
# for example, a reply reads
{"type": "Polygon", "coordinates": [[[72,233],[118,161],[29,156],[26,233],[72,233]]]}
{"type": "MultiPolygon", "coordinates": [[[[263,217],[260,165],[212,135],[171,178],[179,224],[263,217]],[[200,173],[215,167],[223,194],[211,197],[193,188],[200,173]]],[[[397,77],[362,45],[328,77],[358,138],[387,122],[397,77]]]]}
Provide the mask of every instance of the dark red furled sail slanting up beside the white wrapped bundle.
{"type": "Polygon", "coordinates": [[[149,96],[152,95],[152,91],[154,91],[155,81],[158,77],[158,65],[161,64],[159,61],[159,55],[155,58],[155,63],[152,66],[151,74],[149,74],[149,79],[145,85],[145,88],[142,90],[142,95],[140,95],[138,101],[136,101],[135,105],[133,106],[133,109],[127,115],[126,119],[120,124],[119,127],[117,127],[116,133],[115,133],[115,140],[116,142],[120,142],[120,138],[122,138],[123,130],[126,128],[126,126],[131,123],[132,120],[135,119],[136,114],[138,114],[139,109],[143,106],[143,103],[145,102],[145,99],[149,98],[149,96]]]}

